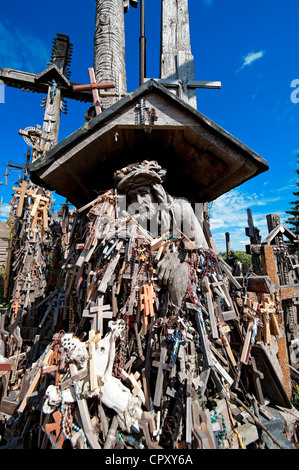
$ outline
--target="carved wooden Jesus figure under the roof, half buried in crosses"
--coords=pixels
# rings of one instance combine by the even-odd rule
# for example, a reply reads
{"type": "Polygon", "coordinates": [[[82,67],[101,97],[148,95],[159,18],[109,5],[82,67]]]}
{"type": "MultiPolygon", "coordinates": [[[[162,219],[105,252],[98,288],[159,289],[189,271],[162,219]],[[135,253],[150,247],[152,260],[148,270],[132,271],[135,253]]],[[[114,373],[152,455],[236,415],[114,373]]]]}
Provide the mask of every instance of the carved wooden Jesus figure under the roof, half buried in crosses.
{"type": "MultiPolygon", "coordinates": [[[[114,175],[117,191],[125,194],[128,212],[138,213],[141,222],[150,221],[151,234],[159,237],[165,233],[180,236],[176,228],[183,230],[184,235],[196,248],[208,248],[202,227],[189,201],[168,194],[163,182],[164,170],[156,161],[144,161],[130,165],[114,175]]],[[[190,248],[171,252],[165,250],[157,266],[158,281],[167,287],[171,300],[181,307],[189,282],[188,252],[190,248]]],[[[194,248],[192,248],[194,249],[194,248]]]]}

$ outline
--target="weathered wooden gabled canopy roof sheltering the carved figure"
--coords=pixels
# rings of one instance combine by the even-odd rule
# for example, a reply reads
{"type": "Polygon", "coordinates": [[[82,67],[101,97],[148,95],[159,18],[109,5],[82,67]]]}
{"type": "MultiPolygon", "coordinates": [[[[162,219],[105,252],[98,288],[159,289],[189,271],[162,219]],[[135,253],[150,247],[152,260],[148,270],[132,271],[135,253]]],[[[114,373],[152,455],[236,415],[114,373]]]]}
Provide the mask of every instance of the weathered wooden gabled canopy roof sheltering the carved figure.
{"type": "Polygon", "coordinates": [[[34,183],[82,207],[113,186],[114,171],[143,160],[157,160],[167,169],[165,189],[192,202],[212,201],[269,168],[242,142],[150,79],[29,170],[34,183]],[[156,117],[152,129],[149,117],[156,117]]]}

